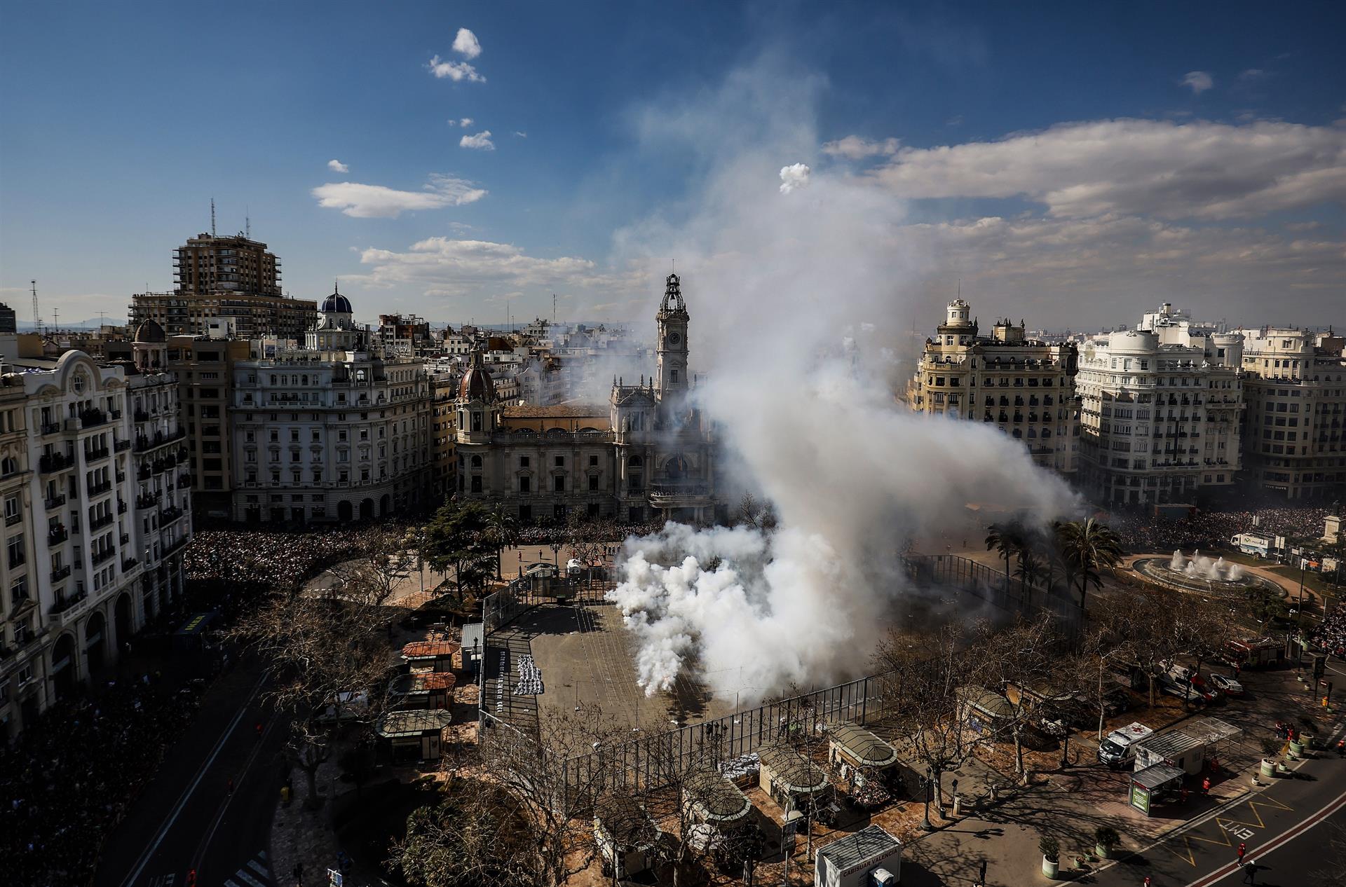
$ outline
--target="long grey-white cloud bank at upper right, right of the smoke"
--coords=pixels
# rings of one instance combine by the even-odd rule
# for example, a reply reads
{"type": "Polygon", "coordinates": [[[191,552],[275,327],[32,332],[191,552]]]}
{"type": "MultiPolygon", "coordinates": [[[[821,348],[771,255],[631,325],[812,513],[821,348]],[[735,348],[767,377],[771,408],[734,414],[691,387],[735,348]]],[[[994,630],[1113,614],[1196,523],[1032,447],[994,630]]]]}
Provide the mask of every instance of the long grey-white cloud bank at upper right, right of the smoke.
{"type": "Polygon", "coordinates": [[[1346,132],[1104,120],[903,148],[871,175],[900,197],[1026,197],[1057,217],[1244,218],[1346,199],[1346,132]]]}

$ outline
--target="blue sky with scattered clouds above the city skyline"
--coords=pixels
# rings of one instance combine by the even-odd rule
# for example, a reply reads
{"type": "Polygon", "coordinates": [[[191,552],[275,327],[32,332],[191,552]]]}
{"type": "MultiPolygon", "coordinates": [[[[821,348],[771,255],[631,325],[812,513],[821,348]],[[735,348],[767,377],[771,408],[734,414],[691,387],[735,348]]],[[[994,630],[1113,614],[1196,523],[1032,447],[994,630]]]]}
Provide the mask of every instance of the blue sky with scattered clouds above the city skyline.
{"type": "Polygon", "coordinates": [[[4,20],[20,319],[32,277],[65,319],[170,288],[211,197],[292,295],[341,277],[367,319],[499,320],[552,292],[630,319],[669,258],[715,262],[725,171],[771,213],[805,164],[810,199],[899,207],[921,316],[961,279],[1030,326],[1164,299],[1346,323],[1341,4],[5,0],[4,20]]]}

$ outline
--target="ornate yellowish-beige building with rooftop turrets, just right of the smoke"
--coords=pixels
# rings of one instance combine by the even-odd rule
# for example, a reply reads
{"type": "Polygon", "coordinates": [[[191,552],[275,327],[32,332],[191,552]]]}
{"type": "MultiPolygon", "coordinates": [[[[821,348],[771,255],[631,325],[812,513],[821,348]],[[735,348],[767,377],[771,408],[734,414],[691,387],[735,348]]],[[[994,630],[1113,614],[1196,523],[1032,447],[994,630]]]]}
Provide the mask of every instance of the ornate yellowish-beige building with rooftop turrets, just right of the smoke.
{"type": "Polygon", "coordinates": [[[1023,441],[1036,464],[1073,475],[1079,448],[1075,346],[1030,339],[1022,320],[997,320],[983,336],[970,314],[962,299],[949,303],[907,384],[907,406],[992,424],[1023,441]]]}

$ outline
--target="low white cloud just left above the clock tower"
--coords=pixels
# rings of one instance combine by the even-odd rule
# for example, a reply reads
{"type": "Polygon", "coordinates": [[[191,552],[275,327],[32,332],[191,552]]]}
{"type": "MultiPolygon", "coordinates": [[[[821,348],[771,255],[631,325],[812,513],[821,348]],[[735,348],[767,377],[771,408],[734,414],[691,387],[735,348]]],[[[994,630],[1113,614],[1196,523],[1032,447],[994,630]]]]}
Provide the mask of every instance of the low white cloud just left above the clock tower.
{"type": "Polygon", "coordinates": [[[647,283],[634,273],[604,271],[588,258],[538,258],[513,244],[451,237],[429,237],[405,252],[366,249],[359,261],[369,267],[366,275],[355,277],[365,285],[408,288],[464,303],[503,295],[542,296],[556,289],[627,297],[647,283]]]}

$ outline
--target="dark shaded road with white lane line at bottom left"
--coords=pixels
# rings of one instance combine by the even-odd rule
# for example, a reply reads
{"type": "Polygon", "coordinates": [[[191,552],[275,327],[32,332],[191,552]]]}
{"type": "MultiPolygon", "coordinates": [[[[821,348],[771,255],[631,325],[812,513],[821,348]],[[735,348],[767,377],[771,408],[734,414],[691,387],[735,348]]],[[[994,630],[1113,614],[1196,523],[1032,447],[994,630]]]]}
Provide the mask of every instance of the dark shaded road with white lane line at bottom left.
{"type": "Polygon", "coordinates": [[[108,840],[93,887],[184,887],[192,870],[199,887],[288,880],[273,876],[267,857],[285,736],[262,705],[265,681],[258,665],[245,662],[210,688],[108,840]]]}

